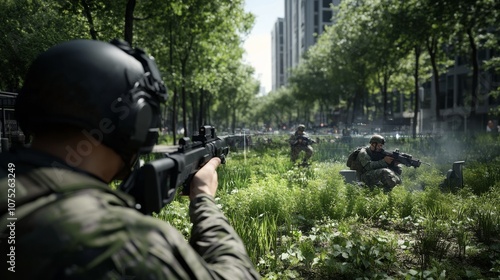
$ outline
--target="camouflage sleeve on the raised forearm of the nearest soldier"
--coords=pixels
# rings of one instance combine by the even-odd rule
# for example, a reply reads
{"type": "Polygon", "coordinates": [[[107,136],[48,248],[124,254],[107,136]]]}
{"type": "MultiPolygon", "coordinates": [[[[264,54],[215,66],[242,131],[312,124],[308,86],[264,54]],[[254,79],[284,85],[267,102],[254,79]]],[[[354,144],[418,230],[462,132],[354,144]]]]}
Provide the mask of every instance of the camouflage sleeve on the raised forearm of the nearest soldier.
{"type": "Polygon", "coordinates": [[[260,279],[245,246],[227,218],[207,195],[190,205],[190,244],[220,279],[260,279]]]}

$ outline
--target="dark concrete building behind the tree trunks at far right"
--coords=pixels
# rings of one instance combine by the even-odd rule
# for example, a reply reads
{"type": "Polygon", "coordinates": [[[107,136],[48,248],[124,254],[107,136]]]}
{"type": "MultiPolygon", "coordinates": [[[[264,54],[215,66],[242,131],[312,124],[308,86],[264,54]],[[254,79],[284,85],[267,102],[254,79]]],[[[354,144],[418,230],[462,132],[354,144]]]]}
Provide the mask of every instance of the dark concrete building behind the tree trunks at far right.
{"type": "Polygon", "coordinates": [[[471,119],[472,72],[468,59],[456,57],[454,65],[440,75],[439,94],[435,94],[435,79],[423,84],[418,126],[421,132],[485,130],[484,126],[490,118],[488,116],[490,108],[500,106],[500,99],[491,93],[500,87],[500,75],[494,71],[483,70],[483,61],[494,56],[493,50],[480,49],[478,52],[481,70],[478,77],[478,93],[474,100],[475,119],[471,119]],[[436,97],[439,98],[439,105],[436,97]],[[440,123],[435,122],[436,106],[439,106],[442,118],[440,123]]]}

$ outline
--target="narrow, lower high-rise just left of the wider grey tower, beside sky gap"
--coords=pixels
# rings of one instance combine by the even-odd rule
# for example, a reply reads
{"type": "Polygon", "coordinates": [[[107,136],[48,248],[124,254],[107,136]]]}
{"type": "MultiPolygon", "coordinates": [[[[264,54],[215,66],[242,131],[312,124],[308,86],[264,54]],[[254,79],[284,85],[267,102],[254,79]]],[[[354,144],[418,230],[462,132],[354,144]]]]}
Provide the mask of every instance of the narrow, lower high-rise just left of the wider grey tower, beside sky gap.
{"type": "Polygon", "coordinates": [[[283,18],[278,18],[271,31],[272,90],[285,85],[285,26],[283,18]]]}

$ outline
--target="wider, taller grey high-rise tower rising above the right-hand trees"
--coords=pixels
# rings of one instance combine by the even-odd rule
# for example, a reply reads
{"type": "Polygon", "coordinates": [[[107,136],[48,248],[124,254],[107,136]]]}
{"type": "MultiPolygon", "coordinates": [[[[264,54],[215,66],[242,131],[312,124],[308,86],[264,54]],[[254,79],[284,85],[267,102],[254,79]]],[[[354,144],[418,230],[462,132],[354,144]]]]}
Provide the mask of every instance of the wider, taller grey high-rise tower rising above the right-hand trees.
{"type": "Polygon", "coordinates": [[[285,0],[285,84],[290,69],[301,62],[302,55],[316,44],[326,25],[332,24],[331,4],[341,0],[285,0]]]}

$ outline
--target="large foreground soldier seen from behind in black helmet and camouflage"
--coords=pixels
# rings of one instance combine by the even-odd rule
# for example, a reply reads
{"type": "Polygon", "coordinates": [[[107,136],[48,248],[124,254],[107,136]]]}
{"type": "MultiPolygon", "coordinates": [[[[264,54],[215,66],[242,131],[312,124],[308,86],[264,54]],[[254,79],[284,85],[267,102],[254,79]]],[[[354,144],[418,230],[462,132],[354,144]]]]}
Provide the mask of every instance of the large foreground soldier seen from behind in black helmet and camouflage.
{"type": "Polygon", "coordinates": [[[34,61],[16,102],[31,146],[0,154],[1,279],[260,278],[214,202],[219,158],[191,181],[189,243],[108,187],[152,151],[166,98],[152,58],[123,41],[69,41],[34,61]]]}

